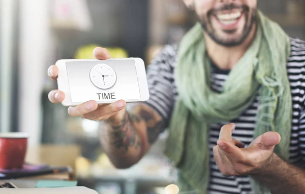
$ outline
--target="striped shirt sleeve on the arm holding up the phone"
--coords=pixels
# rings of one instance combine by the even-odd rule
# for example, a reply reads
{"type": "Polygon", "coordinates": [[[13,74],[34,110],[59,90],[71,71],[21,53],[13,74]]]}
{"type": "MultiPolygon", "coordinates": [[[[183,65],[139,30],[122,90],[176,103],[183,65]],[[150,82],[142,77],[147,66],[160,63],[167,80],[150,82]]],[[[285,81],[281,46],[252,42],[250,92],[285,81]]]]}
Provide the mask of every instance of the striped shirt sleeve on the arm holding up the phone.
{"type": "Polygon", "coordinates": [[[145,102],[155,109],[167,124],[174,106],[175,86],[173,64],[176,47],[165,46],[147,67],[149,99],[145,102]]]}

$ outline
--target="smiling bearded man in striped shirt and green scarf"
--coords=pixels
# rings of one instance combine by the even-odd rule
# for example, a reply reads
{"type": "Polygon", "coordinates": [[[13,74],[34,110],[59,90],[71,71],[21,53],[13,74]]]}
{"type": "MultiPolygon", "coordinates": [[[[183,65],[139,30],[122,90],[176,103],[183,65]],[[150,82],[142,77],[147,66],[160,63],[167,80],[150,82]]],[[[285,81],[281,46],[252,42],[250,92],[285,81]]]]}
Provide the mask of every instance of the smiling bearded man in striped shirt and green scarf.
{"type": "MultiPolygon", "coordinates": [[[[180,191],[304,193],[305,42],[259,12],[257,0],[185,3],[200,22],[149,65],[147,102],[126,111],[123,100],[89,101],[69,114],[107,123],[101,143],[117,168],[137,163],[167,128],[180,191]]],[[[94,56],[110,57],[103,48],[94,56]]],[[[51,66],[49,76],[57,73],[51,66]]]]}

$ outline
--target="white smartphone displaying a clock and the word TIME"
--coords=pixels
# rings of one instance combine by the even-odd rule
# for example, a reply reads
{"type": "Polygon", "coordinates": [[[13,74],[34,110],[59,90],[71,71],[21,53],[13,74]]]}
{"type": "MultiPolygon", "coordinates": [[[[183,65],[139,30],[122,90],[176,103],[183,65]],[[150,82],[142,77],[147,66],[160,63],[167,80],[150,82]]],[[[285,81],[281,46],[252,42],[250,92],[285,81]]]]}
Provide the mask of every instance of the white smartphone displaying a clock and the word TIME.
{"type": "Polygon", "coordinates": [[[58,90],[65,93],[64,106],[89,100],[108,104],[149,99],[145,65],[140,58],[62,59],[55,65],[59,69],[58,90]]]}

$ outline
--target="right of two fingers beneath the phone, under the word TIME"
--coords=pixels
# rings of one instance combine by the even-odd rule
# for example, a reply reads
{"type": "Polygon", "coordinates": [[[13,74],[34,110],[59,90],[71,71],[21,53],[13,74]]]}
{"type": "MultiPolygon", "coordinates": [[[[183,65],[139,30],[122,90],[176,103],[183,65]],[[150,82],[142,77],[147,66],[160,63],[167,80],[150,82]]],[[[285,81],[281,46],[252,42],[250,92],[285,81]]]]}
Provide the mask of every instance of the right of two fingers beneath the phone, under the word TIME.
{"type": "Polygon", "coordinates": [[[117,102],[99,106],[95,111],[86,113],[82,115],[84,119],[90,120],[100,120],[102,117],[106,117],[107,115],[111,115],[121,109],[124,109],[126,106],[126,102],[124,100],[119,100],[117,102]]]}

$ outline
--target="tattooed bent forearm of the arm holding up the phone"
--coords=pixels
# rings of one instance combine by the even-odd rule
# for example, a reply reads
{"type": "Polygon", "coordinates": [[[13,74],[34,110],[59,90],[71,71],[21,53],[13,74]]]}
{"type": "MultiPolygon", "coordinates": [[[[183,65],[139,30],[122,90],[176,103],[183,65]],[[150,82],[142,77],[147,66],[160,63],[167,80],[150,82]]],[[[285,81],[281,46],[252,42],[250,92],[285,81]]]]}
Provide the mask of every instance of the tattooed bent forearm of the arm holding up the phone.
{"type": "Polygon", "coordinates": [[[102,123],[106,127],[101,128],[100,138],[112,164],[117,168],[128,168],[136,164],[157,140],[164,122],[156,111],[143,104],[119,113],[113,120],[102,123]]]}

